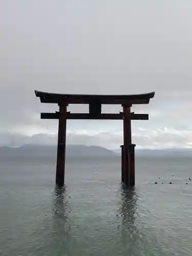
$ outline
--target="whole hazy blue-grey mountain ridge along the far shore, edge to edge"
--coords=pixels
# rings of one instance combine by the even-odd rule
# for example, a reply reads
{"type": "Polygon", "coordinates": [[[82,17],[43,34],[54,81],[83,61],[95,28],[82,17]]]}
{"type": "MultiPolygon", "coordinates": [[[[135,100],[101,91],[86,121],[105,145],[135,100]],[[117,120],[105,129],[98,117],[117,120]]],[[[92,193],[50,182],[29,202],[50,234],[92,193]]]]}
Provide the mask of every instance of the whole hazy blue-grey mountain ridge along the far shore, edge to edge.
{"type": "MultiPolygon", "coordinates": [[[[23,155],[29,156],[56,156],[57,146],[55,145],[23,145],[20,147],[0,146],[1,155],[23,155]]],[[[66,157],[114,157],[120,156],[120,150],[112,151],[100,146],[67,145],[66,157]]],[[[192,157],[192,150],[185,148],[170,148],[166,150],[137,149],[136,157],[192,157]]]]}

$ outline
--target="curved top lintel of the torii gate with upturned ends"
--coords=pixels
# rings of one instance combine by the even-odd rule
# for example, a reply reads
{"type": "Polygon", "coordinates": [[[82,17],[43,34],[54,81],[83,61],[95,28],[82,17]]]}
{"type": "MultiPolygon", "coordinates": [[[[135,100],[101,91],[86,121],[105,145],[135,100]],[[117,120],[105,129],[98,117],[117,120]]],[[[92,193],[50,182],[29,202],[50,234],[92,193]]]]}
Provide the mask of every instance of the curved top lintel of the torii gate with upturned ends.
{"type": "Polygon", "coordinates": [[[42,103],[90,104],[97,101],[100,104],[148,104],[155,92],[132,95],[89,95],[35,91],[35,95],[42,103]]]}

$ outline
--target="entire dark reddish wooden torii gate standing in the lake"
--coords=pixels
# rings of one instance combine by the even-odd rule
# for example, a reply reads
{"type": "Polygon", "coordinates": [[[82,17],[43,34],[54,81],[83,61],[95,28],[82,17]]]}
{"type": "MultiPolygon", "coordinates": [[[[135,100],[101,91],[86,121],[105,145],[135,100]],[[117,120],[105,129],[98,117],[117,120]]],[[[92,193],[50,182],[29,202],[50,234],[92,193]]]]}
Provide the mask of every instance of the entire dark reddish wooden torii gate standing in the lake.
{"type": "Polygon", "coordinates": [[[65,153],[67,119],[111,119],[123,120],[123,145],[121,145],[121,181],[127,186],[135,185],[135,144],[132,144],[131,120],[148,120],[148,114],[131,112],[133,104],[148,104],[155,92],[135,95],[81,95],[57,94],[35,91],[42,103],[56,103],[59,112],[41,113],[41,119],[58,119],[58,145],[56,164],[56,184],[65,182],[65,153]],[[89,104],[89,113],[71,113],[69,104],[89,104]],[[102,104],[121,104],[123,112],[119,114],[101,113],[102,104]]]}

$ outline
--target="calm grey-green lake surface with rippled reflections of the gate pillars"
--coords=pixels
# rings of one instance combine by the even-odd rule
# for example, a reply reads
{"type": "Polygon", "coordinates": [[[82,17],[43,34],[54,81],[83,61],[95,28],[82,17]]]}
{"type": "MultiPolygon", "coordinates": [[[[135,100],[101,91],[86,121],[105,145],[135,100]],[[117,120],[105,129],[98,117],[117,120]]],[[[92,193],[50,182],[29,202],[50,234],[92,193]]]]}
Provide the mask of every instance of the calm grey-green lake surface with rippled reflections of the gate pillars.
{"type": "Polygon", "coordinates": [[[118,157],[68,158],[62,190],[54,157],[0,160],[1,256],[192,255],[190,158],[137,158],[131,191],[118,157]]]}

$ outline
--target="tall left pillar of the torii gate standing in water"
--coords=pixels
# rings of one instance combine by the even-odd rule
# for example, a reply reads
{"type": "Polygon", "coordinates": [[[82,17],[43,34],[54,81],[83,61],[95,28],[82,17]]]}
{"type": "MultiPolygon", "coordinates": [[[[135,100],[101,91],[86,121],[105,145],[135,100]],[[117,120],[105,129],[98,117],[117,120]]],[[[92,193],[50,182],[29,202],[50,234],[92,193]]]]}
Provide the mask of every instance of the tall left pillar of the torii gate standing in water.
{"type": "Polygon", "coordinates": [[[65,182],[66,128],[67,128],[67,104],[59,104],[57,165],[56,165],[56,184],[59,186],[62,186],[65,182]]]}

